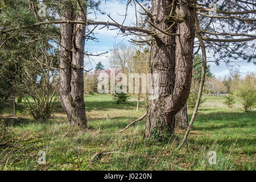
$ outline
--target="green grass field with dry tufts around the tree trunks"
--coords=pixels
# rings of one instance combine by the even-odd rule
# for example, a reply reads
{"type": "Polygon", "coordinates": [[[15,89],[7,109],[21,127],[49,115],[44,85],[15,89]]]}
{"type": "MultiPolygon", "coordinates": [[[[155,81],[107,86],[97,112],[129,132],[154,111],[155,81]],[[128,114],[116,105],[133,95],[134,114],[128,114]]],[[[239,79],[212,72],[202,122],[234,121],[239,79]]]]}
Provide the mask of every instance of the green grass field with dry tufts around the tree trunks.
{"type": "MultiPolygon", "coordinates": [[[[68,126],[58,102],[47,122],[33,121],[17,108],[10,117],[9,143],[0,146],[1,170],[256,170],[256,109],[244,113],[237,102],[232,109],[223,97],[205,97],[199,108],[188,145],[143,139],[145,121],[117,133],[145,113],[136,111],[136,100],[117,105],[110,95],[85,96],[88,129],[68,126]],[[38,164],[38,152],[46,152],[46,164],[38,164]],[[216,152],[209,164],[208,152],[216,152]],[[96,152],[106,153],[90,163],[96,152]]],[[[144,103],[141,102],[141,105],[144,103]]],[[[3,117],[12,109],[6,108],[3,117]]],[[[189,119],[192,110],[188,111],[189,119]]],[[[177,129],[183,138],[185,131],[177,129]]]]}

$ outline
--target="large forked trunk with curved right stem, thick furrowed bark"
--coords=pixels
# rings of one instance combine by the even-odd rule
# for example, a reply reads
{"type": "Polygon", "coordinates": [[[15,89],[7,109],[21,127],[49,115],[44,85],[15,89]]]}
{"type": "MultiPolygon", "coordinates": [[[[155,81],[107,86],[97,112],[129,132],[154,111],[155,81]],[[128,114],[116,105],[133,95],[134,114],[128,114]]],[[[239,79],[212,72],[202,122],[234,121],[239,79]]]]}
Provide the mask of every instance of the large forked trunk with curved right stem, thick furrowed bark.
{"type": "MultiPolygon", "coordinates": [[[[144,137],[151,137],[154,129],[158,133],[174,134],[175,114],[185,105],[189,96],[192,73],[193,40],[195,38],[195,10],[189,2],[180,1],[171,6],[171,1],[153,0],[152,15],[154,24],[167,30],[173,22],[168,21],[172,7],[178,16],[185,17],[179,24],[167,30],[162,42],[154,41],[151,48],[150,73],[158,73],[159,97],[150,100],[147,109],[146,129],[144,137]]],[[[154,80],[154,75],[152,76],[154,80]]]]}

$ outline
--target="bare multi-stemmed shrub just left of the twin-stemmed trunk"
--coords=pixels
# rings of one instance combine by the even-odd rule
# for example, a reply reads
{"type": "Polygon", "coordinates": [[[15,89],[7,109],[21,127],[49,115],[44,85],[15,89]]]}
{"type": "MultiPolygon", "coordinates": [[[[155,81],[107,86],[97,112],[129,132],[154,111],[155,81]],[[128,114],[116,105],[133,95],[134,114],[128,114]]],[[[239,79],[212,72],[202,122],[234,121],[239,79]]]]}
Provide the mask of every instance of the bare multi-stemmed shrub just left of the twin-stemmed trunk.
{"type": "Polygon", "coordinates": [[[24,64],[22,84],[15,86],[18,93],[23,94],[22,105],[30,111],[34,119],[45,121],[51,117],[53,106],[58,98],[59,78],[55,66],[55,57],[39,56],[42,64],[33,61],[24,64]]]}

